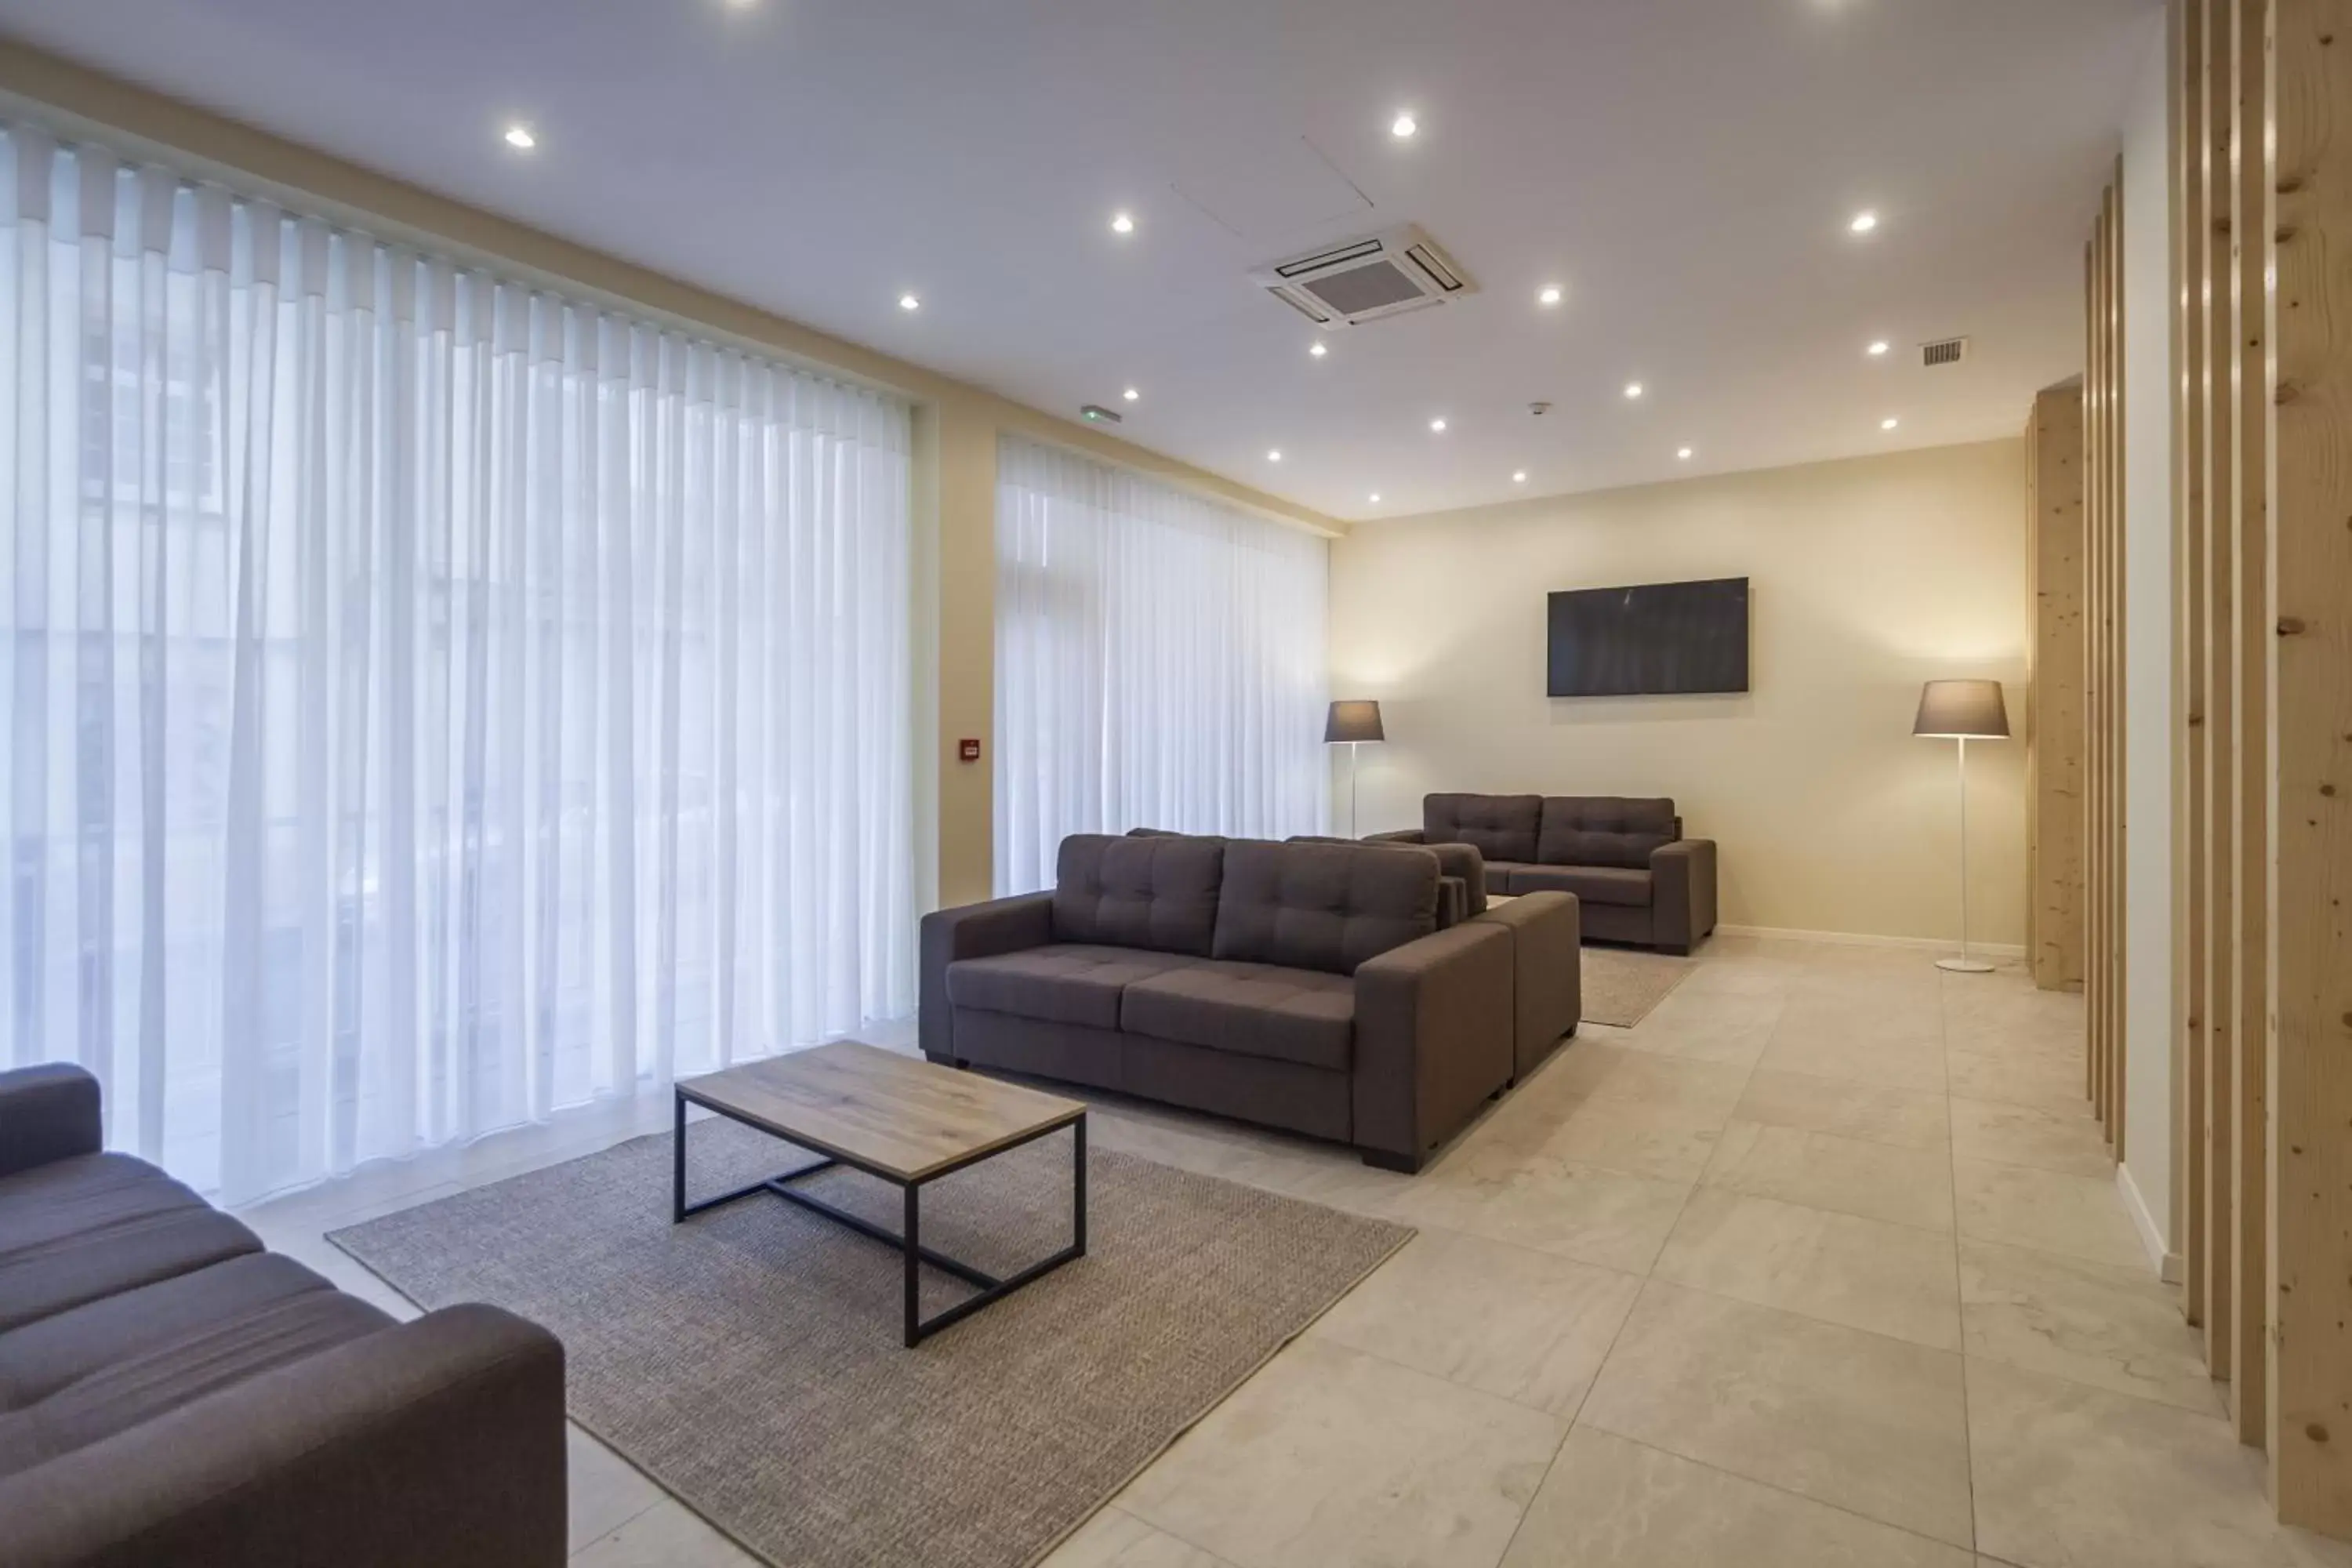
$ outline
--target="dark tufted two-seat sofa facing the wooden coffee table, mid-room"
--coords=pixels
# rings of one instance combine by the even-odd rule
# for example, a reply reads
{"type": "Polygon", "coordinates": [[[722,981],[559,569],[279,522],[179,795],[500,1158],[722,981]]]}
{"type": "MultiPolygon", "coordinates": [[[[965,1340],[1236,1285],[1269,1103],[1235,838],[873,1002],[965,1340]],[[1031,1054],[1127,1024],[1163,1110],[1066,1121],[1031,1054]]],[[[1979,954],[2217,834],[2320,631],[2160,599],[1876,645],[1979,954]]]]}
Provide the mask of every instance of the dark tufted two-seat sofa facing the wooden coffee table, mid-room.
{"type": "Polygon", "coordinates": [[[1418,1171],[1519,1072],[1512,931],[1437,929],[1435,856],[1063,839],[1051,893],[922,922],[922,1051],[1418,1171]]]}

